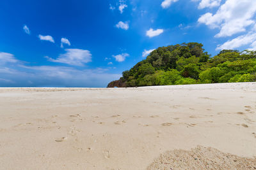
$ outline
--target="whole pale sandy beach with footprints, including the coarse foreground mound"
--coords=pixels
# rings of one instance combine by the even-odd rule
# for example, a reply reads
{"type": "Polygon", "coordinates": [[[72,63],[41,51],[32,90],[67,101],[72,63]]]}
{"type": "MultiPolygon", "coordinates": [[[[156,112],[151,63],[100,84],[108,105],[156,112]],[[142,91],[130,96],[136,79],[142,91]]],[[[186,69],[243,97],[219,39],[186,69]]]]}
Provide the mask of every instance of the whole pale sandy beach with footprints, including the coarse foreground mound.
{"type": "Polygon", "coordinates": [[[255,169],[256,83],[0,89],[0,169],[255,169]]]}

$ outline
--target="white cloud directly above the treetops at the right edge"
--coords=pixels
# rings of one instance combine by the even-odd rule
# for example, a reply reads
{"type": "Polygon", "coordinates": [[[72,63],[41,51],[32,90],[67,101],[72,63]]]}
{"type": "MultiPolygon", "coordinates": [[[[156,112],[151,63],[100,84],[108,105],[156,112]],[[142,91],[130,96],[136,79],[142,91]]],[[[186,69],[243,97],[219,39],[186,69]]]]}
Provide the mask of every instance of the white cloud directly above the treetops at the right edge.
{"type": "Polygon", "coordinates": [[[229,40],[223,43],[223,45],[218,45],[216,50],[236,49],[240,46],[249,44],[251,44],[252,48],[256,50],[256,33],[249,32],[248,34],[229,40]]]}

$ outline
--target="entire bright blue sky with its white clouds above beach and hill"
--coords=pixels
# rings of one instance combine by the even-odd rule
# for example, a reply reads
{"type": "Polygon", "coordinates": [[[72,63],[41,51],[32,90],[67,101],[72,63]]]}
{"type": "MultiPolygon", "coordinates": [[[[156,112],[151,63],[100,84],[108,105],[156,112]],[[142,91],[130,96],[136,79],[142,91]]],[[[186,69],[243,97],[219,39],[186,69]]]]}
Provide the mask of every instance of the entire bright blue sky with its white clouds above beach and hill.
{"type": "Polygon", "coordinates": [[[1,0],[0,87],[106,87],[159,46],[256,50],[255,0],[1,0]]]}

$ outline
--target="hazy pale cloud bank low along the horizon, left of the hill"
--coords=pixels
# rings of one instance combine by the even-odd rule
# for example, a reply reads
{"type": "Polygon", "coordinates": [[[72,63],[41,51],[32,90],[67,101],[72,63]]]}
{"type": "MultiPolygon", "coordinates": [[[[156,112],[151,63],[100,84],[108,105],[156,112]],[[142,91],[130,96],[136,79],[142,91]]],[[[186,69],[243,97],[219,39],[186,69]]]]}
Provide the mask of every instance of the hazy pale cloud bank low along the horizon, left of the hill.
{"type": "Polygon", "coordinates": [[[110,81],[122,76],[100,67],[26,66],[22,63],[28,62],[5,52],[1,52],[0,63],[0,87],[106,87],[110,81]]]}

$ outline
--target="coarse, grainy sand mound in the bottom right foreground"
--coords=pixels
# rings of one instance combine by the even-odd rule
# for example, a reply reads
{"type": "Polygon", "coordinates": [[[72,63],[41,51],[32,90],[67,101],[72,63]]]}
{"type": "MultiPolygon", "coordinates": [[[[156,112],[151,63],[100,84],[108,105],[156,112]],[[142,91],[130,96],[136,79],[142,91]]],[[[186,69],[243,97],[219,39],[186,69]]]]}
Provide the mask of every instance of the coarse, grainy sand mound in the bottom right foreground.
{"type": "Polygon", "coordinates": [[[214,148],[197,146],[191,151],[163,153],[147,169],[256,169],[256,158],[237,157],[214,148]]]}

